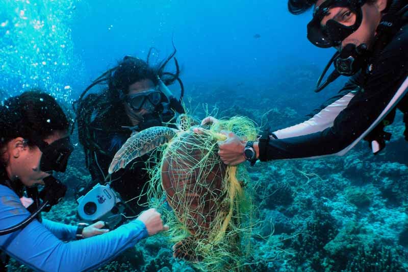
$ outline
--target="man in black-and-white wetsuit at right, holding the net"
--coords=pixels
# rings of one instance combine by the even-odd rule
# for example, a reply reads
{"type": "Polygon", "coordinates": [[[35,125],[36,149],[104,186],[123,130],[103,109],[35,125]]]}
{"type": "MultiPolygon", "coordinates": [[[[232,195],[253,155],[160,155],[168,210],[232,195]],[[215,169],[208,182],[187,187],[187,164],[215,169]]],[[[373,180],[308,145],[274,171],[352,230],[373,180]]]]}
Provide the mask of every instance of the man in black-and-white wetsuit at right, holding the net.
{"type": "MultiPolygon", "coordinates": [[[[385,147],[396,109],[404,114],[408,140],[408,6],[403,0],[289,0],[299,14],[314,7],[308,39],[316,46],[335,47],[330,60],[335,71],[320,91],[340,75],[352,76],[336,97],[328,100],[311,119],[275,131],[264,131],[256,142],[242,141],[234,133],[219,144],[224,163],[317,158],[344,155],[360,140],[374,154],[385,147]]],[[[203,123],[216,121],[213,117],[203,123]]]]}

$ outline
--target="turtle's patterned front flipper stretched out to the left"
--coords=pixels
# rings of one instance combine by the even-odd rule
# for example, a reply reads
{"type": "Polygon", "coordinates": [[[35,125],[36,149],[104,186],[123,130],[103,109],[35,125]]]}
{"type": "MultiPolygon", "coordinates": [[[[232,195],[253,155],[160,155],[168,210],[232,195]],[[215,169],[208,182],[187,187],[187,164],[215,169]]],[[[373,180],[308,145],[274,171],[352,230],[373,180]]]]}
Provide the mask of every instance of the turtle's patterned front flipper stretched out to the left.
{"type": "Polygon", "coordinates": [[[109,166],[109,174],[126,167],[128,163],[156,147],[168,143],[176,135],[176,132],[177,130],[172,128],[151,127],[133,135],[116,152],[109,166]]]}

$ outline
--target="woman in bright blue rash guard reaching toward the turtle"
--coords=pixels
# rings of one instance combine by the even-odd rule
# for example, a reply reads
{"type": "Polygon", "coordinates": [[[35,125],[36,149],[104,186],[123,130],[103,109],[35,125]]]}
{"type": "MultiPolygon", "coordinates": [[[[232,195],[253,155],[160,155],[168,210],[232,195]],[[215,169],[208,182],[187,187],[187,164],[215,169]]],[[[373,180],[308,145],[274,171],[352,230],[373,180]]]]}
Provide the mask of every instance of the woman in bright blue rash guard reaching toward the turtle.
{"type": "Polygon", "coordinates": [[[168,229],[155,209],[109,232],[103,222],[74,227],[41,218],[39,209],[65,195],[50,173],[66,169],[70,125],[45,92],[25,92],[0,106],[0,250],[38,271],[93,270],[168,229]],[[38,184],[45,185],[40,192],[38,184]]]}

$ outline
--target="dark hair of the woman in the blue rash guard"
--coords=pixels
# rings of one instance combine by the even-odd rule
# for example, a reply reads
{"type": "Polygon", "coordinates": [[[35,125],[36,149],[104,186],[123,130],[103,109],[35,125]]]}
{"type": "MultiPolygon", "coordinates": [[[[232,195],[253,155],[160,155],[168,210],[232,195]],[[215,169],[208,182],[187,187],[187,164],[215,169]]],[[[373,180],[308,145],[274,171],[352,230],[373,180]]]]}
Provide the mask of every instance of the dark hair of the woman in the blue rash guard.
{"type": "MultiPolygon", "coordinates": [[[[44,140],[56,132],[67,132],[70,125],[53,96],[40,89],[23,92],[0,105],[0,151],[17,137],[34,146],[36,139],[44,140]]],[[[4,162],[0,165],[0,171],[4,170],[4,162]]]]}

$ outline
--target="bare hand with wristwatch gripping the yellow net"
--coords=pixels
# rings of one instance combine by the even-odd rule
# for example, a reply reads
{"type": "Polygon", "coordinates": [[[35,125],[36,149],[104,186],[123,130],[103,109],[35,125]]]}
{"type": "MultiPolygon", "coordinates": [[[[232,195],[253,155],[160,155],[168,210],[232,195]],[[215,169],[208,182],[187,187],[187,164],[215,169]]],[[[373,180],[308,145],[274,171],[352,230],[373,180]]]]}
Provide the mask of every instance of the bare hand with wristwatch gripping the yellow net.
{"type": "Polygon", "coordinates": [[[232,166],[244,162],[245,141],[233,132],[221,131],[220,133],[227,137],[224,141],[218,142],[218,155],[220,155],[221,160],[232,166]]]}

